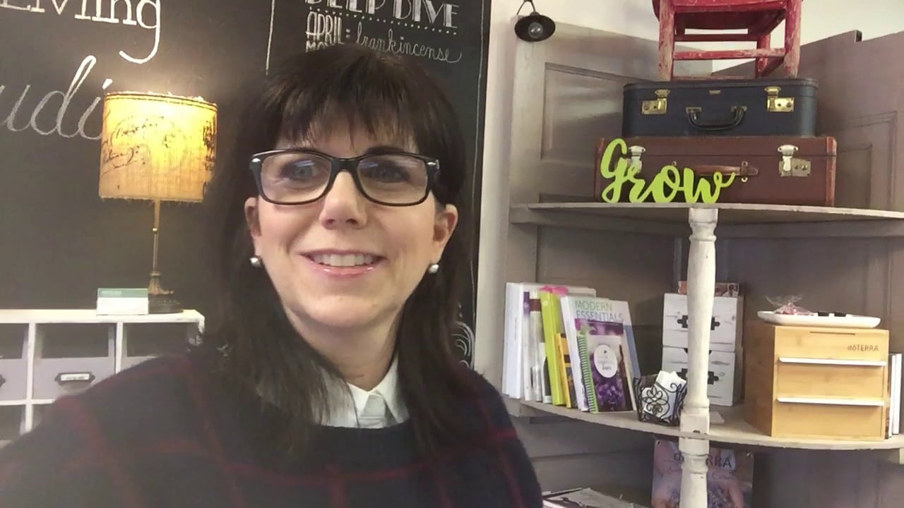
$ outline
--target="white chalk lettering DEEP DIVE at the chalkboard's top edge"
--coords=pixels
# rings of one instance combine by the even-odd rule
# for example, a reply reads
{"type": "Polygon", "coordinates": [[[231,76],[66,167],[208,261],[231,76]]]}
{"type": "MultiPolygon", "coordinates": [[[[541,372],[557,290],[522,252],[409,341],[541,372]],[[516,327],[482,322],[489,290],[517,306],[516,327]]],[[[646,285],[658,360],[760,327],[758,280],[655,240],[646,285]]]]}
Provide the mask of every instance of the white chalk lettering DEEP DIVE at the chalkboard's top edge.
{"type": "Polygon", "coordinates": [[[457,28],[458,5],[438,0],[305,0],[305,3],[348,13],[391,16],[394,20],[457,28]]]}

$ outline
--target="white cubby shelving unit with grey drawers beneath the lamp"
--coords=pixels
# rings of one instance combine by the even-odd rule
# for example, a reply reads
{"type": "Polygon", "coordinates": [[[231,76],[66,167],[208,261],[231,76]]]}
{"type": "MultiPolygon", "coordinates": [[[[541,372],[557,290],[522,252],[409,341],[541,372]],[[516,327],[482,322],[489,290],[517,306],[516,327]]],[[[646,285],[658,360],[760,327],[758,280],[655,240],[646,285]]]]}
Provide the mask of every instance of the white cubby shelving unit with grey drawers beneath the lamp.
{"type": "Polygon", "coordinates": [[[0,310],[0,440],[28,432],[42,407],[163,353],[181,353],[203,332],[194,310],[98,315],[93,309],[0,310]],[[14,428],[16,427],[17,428],[14,428]]]}

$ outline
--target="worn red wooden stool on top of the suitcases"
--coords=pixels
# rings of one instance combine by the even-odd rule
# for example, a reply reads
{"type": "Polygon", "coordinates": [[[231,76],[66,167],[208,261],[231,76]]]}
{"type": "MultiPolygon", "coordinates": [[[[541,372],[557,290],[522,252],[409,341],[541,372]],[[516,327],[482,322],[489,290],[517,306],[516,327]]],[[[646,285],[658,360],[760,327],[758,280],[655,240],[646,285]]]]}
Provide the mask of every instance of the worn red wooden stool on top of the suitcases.
{"type": "Polygon", "coordinates": [[[676,60],[757,59],[756,77],[784,64],[797,76],[800,61],[800,5],[803,0],[653,0],[659,19],[659,74],[673,79],[676,60]],[[769,37],[785,21],[785,46],[771,48],[769,37]],[[696,30],[747,30],[747,33],[685,33],[696,30]],[[675,42],[757,42],[756,50],[676,52],[675,42]]]}

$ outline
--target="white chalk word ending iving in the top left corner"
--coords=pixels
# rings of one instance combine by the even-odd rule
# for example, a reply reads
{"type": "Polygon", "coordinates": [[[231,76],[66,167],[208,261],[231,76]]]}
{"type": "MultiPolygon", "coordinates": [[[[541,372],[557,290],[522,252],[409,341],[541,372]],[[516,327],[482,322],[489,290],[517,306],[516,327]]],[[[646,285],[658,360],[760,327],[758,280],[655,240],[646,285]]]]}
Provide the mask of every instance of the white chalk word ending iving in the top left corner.
{"type": "Polygon", "coordinates": [[[52,5],[52,11],[57,16],[63,15],[66,7],[73,8],[80,5],[80,10],[75,11],[73,19],[108,24],[126,24],[139,26],[146,30],[154,31],[154,45],[144,57],[134,57],[127,52],[120,51],[119,56],[134,63],[145,63],[154,58],[160,47],[160,0],[81,0],[79,3],[71,3],[71,0],[0,0],[0,9],[22,11],[30,14],[45,14],[48,11],[43,5],[52,5]],[[93,10],[91,9],[93,7],[93,10]]]}

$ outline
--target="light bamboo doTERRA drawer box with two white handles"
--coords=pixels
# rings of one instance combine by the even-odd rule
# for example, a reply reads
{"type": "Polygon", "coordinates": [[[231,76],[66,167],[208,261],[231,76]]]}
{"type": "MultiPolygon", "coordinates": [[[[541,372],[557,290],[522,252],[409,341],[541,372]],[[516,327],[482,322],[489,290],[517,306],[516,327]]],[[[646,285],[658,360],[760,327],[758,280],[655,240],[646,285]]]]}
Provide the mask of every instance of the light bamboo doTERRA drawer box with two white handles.
{"type": "Polygon", "coordinates": [[[772,437],[885,438],[889,332],[744,327],[744,419],[772,437]]]}

